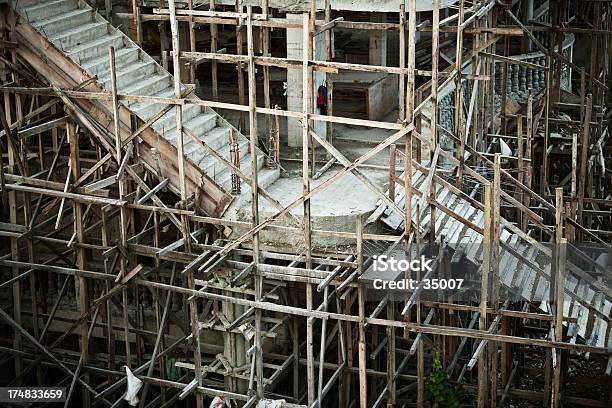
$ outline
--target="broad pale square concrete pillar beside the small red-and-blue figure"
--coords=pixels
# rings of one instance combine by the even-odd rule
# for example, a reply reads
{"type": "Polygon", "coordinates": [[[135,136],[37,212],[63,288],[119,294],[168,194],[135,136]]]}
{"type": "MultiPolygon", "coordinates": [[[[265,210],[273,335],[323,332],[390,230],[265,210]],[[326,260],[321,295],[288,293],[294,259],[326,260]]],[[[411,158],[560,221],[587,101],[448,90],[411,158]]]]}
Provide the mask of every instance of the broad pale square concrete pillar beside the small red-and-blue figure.
{"type": "MultiPolygon", "coordinates": [[[[287,14],[287,18],[302,22],[301,14],[287,14]]],[[[302,28],[287,29],[287,58],[299,59],[303,58],[304,44],[302,41],[302,28]]],[[[325,54],[325,36],[318,35],[314,40],[314,59],[318,61],[326,61],[325,54]]],[[[319,109],[316,108],[317,90],[320,85],[325,83],[326,75],[324,72],[314,72],[313,75],[313,92],[315,109],[314,112],[319,114],[319,109]]],[[[302,111],[302,70],[288,69],[287,70],[287,109],[290,111],[302,111]]],[[[315,122],[314,131],[321,137],[326,135],[326,123],[315,122]]],[[[287,137],[290,147],[302,146],[302,125],[296,118],[287,118],[287,137]]]]}

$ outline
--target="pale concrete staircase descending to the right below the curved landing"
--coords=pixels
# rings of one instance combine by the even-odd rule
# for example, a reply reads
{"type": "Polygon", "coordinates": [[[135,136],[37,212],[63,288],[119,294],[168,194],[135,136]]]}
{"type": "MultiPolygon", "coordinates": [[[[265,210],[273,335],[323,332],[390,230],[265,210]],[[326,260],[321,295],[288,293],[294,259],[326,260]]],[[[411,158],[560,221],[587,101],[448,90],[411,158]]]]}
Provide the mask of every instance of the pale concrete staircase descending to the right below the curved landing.
{"type": "MultiPolygon", "coordinates": [[[[423,195],[429,194],[431,188],[426,180],[427,173],[414,169],[412,185],[423,195]]],[[[450,248],[462,253],[467,261],[481,268],[482,235],[450,213],[455,213],[473,225],[484,228],[484,211],[440,184],[436,184],[434,195],[435,200],[447,209],[446,212],[439,208],[435,209],[436,235],[445,237],[445,242],[450,248]]],[[[419,201],[420,197],[413,194],[411,219],[415,224],[420,221],[422,235],[425,235],[432,227],[431,208],[427,206],[421,216],[418,216],[416,209],[419,201]]],[[[403,189],[396,193],[395,203],[398,207],[405,208],[406,197],[403,189]]],[[[391,229],[404,229],[404,218],[384,204],[370,217],[371,220],[379,218],[391,229]]],[[[550,245],[537,242],[521,233],[503,217],[500,217],[499,238],[499,274],[503,290],[512,294],[516,300],[534,302],[539,304],[543,312],[549,312],[549,305],[545,300],[549,292],[553,265],[550,245]]],[[[567,263],[563,313],[564,316],[577,320],[568,325],[567,333],[572,337],[572,342],[575,342],[576,338],[581,338],[591,346],[612,347],[611,293],[612,289],[604,280],[591,276],[585,272],[584,267],[577,266],[572,260],[567,263]]]]}

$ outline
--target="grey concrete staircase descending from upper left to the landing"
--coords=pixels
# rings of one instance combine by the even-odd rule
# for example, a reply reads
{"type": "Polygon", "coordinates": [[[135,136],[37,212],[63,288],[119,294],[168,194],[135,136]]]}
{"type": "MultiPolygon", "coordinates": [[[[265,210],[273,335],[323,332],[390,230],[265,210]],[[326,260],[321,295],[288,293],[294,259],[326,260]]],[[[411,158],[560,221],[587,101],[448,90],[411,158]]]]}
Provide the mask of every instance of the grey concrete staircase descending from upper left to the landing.
{"type": "MultiPolygon", "coordinates": [[[[124,95],[173,97],[173,78],[120,30],[114,28],[88,4],[77,0],[20,0],[13,2],[17,13],[42,36],[78,64],[98,83],[110,91],[108,50],[115,48],[117,91],[124,95]]],[[[186,89],[186,88],[185,88],[186,89]]],[[[197,98],[190,96],[189,98],[197,98]]],[[[164,106],[159,104],[125,103],[143,121],[155,116],[164,106]]],[[[251,173],[248,139],[210,108],[194,104],[183,107],[183,127],[217,153],[230,159],[229,136],[232,129],[240,145],[241,170],[251,173]]],[[[175,110],[171,109],[152,126],[164,139],[176,146],[175,110]]],[[[195,140],[184,136],[184,152],[196,166],[226,192],[231,191],[230,169],[208,154],[195,140]]],[[[264,166],[263,152],[257,151],[259,186],[265,188],[279,177],[278,169],[264,166]]],[[[242,195],[249,186],[242,183],[242,195]]]]}

